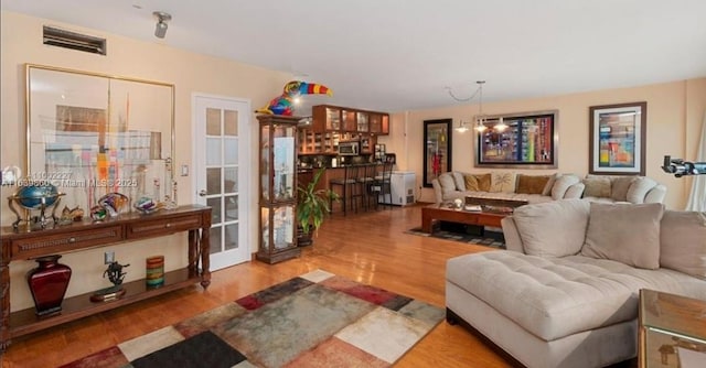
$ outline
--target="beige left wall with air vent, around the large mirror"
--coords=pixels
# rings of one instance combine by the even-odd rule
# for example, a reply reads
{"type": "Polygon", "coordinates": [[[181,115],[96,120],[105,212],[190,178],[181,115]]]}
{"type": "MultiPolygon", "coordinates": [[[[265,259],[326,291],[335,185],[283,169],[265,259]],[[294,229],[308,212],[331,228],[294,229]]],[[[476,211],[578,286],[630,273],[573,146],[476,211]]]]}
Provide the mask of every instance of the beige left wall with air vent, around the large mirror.
{"type": "MultiPolygon", "coordinates": [[[[192,161],[191,101],[193,93],[231,96],[249,99],[253,109],[258,108],[280,93],[282,85],[291,77],[289,74],[272,72],[256,66],[235,63],[180,51],[164,45],[159,40],[141,42],[114,34],[105,34],[95,30],[85,30],[75,25],[61,24],[55,21],[31,18],[18,13],[2,11],[1,18],[1,155],[0,166],[24,165],[25,123],[24,123],[24,63],[51,65],[95,73],[128,76],[149,80],[164,82],[175,85],[175,167],[192,161]],[[66,30],[84,32],[106,37],[108,55],[92,55],[65,48],[42,45],[42,26],[56,25],[66,30]]],[[[250,117],[256,123],[255,117],[250,117]]],[[[250,142],[257,143],[257,129],[252,130],[250,142]]],[[[257,170],[256,155],[252,155],[250,167],[257,170]]],[[[193,171],[192,171],[193,172],[193,171]]],[[[257,175],[250,175],[252,188],[257,187],[257,175]]],[[[176,177],[181,204],[192,203],[194,192],[192,176],[176,177]]],[[[13,188],[2,188],[2,198],[13,188]]],[[[256,193],[256,192],[253,192],[256,193]]],[[[257,214],[256,201],[252,199],[249,209],[257,214]]],[[[2,201],[1,223],[8,226],[13,220],[7,202],[2,201]]],[[[253,215],[253,218],[257,218],[253,215]]],[[[257,221],[249,224],[253,235],[250,245],[256,243],[257,221]]],[[[186,251],[183,236],[172,236],[151,241],[132,242],[110,247],[121,263],[131,263],[127,269],[126,280],[140,279],[145,275],[145,258],[151,255],[164,255],[168,270],[185,266],[186,251]]],[[[108,248],[64,255],[62,261],[74,270],[67,294],[75,295],[100,288],[109,286],[101,278],[105,266],[103,252],[108,248]]],[[[252,249],[255,251],[256,249],[252,249]]],[[[18,261],[11,264],[12,310],[33,306],[24,282],[25,272],[33,268],[33,261],[18,261]]]]}

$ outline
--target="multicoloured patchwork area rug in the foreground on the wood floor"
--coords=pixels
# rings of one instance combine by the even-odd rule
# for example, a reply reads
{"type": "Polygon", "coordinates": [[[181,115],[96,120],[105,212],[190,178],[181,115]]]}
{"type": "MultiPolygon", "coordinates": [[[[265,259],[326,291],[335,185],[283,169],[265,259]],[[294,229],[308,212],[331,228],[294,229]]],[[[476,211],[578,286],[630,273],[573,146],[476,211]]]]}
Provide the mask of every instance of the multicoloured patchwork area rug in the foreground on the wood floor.
{"type": "Polygon", "coordinates": [[[443,316],[317,270],[64,367],[388,367],[443,316]]]}

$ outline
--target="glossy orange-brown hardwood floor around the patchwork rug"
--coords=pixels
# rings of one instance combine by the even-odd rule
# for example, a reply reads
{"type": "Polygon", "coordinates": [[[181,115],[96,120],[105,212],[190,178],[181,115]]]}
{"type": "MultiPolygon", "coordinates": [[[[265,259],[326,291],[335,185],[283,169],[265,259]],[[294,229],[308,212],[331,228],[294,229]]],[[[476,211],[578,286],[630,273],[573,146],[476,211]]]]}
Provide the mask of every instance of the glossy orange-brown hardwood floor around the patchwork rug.
{"type": "MultiPolygon", "coordinates": [[[[446,260],[490,248],[404,234],[421,223],[420,206],[334,214],[298,259],[258,261],[213,273],[207,291],[192,286],[14,339],[2,367],[52,367],[174,324],[240,296],[322,269],[443,307],[446,260]]],[[[459,326],[441,322],[396,367],[507,367],[459,326]]]]}

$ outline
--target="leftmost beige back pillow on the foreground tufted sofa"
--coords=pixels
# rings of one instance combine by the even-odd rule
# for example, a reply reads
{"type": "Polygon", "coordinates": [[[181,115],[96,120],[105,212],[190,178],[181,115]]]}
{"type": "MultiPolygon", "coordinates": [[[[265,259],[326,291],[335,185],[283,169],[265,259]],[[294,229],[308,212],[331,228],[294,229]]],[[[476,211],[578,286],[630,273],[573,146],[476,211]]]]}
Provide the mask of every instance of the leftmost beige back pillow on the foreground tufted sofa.
{"type": "Polygon", "coordinates": [[[590,203],[552,201],[515,208],[512,214],[525,253],[565,257],[584,246],[590,203]]]}

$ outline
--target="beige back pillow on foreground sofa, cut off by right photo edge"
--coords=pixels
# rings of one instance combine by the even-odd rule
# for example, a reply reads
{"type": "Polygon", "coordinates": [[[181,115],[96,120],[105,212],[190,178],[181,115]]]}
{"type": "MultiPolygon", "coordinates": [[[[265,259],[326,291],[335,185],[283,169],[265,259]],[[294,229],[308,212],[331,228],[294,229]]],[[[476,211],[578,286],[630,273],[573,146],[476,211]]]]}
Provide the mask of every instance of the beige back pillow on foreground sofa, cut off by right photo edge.
{"type": "Polygon", "coordinates": [[[660,266],[706,279],[706,213],[664,212],[660,266]]]}

